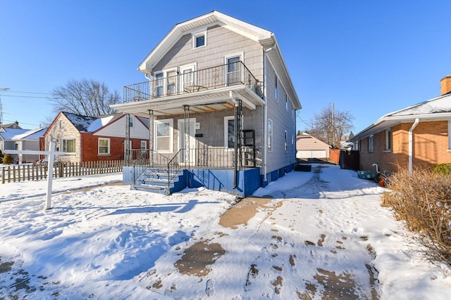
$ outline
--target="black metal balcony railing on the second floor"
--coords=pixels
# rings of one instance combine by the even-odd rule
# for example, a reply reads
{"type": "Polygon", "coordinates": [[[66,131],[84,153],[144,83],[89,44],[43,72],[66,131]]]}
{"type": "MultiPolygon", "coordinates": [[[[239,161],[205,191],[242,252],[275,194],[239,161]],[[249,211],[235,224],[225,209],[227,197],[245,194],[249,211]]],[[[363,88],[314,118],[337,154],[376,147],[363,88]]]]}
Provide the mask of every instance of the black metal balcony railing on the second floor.
{"type": "MultiPolygon", "coordinates": [[[[175,72],[174,72],[175,73],[175,72]]],[[[157,75],[158,76],[158,75],[157,75]]],[[[124,103],[245,85],[263,98],[261,81],[241,61],[124,86],[124,103]]]]}

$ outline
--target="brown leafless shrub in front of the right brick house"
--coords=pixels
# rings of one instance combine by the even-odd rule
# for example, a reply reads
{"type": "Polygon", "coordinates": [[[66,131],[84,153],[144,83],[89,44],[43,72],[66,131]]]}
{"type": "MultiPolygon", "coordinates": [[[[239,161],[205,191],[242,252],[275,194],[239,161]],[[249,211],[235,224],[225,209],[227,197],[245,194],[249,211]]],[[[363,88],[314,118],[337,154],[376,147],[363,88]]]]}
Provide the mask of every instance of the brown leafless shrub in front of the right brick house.
{"type": "Polygon", "coordinates": [[[440,171],[400,169],[390,177],[382,205],[392,207],[397,220],[418,233],[416,242],[432,263],[451,265],[451,176],[440,171]]]}

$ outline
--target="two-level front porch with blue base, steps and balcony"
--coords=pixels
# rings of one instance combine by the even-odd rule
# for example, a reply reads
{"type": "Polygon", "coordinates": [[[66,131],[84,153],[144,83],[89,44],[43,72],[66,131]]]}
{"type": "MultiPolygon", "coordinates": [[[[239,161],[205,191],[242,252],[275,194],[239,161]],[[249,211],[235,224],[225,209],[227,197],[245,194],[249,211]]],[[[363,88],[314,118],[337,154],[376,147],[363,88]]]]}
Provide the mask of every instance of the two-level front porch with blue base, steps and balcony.
{"type": "Polygon", "coordinates": [[[256,131],[243,129],[242,118],[244,110],[251,116],[264,105],[262,86],[239,63],[239,72],[223,77],[221,84],[207,78],[227,65],[124,87],[124,103],[112,107],[127,118],[149,119],[149,148],[131,148],[130,127],[125,129],[124,183],[137,188],[159,182],[165,187],[161,193],[168,194],[205,186],[242,196],[260,186],[256,131]],[[199,119],[214,138],[206,141],[204,133],[197,133],[199,119]]]}

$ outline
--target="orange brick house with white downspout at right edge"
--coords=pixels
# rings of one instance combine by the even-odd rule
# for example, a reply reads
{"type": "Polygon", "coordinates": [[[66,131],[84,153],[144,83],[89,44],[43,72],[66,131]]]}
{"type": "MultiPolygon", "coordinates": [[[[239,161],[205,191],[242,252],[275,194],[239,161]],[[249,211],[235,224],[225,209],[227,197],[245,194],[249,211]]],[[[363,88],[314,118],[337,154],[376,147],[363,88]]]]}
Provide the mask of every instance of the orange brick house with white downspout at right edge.
{"type": "Polygon", "coordinates": [[[357,133],[360,170],[397,171],[451,162],[451,75],[441,81],[441,96],[390,112],[357,133]]]}

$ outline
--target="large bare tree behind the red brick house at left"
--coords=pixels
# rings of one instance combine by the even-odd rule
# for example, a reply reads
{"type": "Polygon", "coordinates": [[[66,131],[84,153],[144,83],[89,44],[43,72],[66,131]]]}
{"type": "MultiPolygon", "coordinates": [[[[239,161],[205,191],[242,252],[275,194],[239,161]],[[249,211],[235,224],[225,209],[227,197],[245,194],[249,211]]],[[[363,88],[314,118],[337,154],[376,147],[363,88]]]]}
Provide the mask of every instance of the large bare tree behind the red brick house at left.
{"type": "Polygon", "coordinates": [[[106,84],[92,79],[69,80],[67,84],[57,86],[52,94],[54,112],[72,112],[91,117],[113,113],[109,105],[118,103],[121,98],[118,91],[110,92],[106,84]]]}

